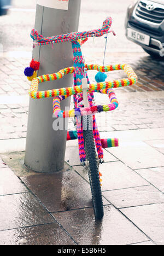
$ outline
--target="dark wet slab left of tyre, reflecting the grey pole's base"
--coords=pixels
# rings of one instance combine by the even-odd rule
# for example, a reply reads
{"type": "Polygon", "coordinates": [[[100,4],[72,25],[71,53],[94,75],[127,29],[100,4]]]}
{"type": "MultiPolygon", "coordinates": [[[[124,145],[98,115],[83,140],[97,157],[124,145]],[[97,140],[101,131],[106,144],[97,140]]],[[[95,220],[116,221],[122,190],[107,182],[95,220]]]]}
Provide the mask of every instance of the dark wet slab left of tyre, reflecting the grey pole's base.
{"type": "MultiPolygon", "coordinates": [[[[92,207],[89,183],[74,170],[21,177],[49,212],[92,207]]],[[[109,204],[104,199],[104,204],[109,204]]]]}

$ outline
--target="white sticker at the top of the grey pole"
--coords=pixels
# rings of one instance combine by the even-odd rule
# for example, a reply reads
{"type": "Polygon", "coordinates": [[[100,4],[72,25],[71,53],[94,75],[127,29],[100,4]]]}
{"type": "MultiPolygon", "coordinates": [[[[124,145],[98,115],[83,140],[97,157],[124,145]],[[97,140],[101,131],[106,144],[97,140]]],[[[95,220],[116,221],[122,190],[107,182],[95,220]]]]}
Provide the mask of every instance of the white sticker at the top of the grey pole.
{"type": "Polygon", "coordinates": [[[68,10],[69,0],[37,0],[37,4],[61,10],[68,10]]]}

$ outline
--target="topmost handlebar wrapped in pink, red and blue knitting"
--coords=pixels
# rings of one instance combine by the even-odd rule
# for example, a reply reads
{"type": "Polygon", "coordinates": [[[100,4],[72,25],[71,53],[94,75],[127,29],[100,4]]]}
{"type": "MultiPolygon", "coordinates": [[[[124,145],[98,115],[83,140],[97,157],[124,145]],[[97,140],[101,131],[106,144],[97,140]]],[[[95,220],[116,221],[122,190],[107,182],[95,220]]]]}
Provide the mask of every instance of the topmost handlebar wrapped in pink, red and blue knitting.
{"type": "Polygon", "coordinates": [[[91,31],[84,31],[84,32],[72,32],[68,34],[62,34],[60,36],[52,36],[52,37],[43,37],[42,34],[40,34],[37,30],[31,31],[31,38],[36,41],[37,45],[45,45],[45,44],[51,44],[51,43],[61,43],[61,42],[75,42],[79,39],[84,39],[88,37],[101,37],[103,34],[111,33],[114,31],[109,30],[112,26],[112,18],[107,18],[103,22],[102,28],[99,28],[98,30],[91,30],[91,31]]]}

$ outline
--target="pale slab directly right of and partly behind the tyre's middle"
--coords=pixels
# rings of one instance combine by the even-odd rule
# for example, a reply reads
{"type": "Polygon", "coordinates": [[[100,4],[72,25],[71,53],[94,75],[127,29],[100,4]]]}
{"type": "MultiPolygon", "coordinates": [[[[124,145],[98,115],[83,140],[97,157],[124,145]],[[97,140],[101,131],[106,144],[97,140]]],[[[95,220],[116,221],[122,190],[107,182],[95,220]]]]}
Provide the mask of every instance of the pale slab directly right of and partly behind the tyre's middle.
{"type": "MultiPolygon", "coordinates": [[[[74,166],[74,169],[88,181],[88,174],[81,166],[74,166]]],[[[99,165],[99,171],[102,173],[102,191],[149,185],[147,181],[120,161],[99,165]]]]}

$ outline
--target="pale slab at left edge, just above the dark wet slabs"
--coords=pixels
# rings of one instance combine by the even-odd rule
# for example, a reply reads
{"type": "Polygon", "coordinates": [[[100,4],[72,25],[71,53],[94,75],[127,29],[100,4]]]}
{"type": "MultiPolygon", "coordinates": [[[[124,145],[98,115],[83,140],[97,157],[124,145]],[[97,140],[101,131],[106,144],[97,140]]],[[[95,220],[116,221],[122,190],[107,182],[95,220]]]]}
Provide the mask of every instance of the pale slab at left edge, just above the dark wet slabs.
{"type": "Polygon", "coordinates": [[[28,191],[10,168],[0,168],[0,196],[28,191]]]}

